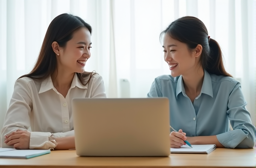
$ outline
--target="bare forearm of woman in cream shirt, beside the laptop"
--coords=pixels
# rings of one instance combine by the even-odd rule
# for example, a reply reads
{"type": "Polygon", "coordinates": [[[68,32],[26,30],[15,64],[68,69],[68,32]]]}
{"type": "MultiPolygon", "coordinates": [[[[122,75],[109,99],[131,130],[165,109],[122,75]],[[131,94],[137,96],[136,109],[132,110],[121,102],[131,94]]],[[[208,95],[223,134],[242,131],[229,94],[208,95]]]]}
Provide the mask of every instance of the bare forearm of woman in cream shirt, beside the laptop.
{"type": "Polygon", "coordinates": [[[75,149],[75,136],[56,138],[56,150],[75,149]]]}

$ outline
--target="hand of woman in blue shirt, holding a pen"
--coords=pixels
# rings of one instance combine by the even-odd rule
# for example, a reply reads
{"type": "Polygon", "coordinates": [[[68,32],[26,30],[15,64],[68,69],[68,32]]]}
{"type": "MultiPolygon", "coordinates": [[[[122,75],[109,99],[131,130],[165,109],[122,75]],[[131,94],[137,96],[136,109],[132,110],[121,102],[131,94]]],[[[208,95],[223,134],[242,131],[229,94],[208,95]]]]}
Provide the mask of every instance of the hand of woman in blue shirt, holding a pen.
{"type": "Polygon", "coordinates": [[[172,131],[170,134],[171,148],[180,148],[182,145],[186,145],[186,133],[180,129],[178,132],[172,131]],[[184,141],[183,141],[184,140],[184,141]]]}

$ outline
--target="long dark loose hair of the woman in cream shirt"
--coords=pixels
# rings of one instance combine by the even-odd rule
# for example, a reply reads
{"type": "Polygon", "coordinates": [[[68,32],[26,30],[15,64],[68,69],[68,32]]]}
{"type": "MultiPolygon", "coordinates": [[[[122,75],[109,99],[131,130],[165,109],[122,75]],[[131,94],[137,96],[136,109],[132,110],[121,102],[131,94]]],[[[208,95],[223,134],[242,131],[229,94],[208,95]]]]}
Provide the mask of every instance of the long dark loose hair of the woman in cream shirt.
{"type": "MultiPolygon", "coordinates": [[[[65,48],[67,42],[72,39],[73,33],[81,27],[88,28],[90,33],[92,31],[91,26],[80,17],[63,13],[54,18],[46,31],[34,68],[29,74],[20,78],[29,77],[33,80],[41,81],[52,75],[57,67],[56,54],[52,49],[52,42],[56,41],[61,48],[65,48]]],[[[93,72],[76,73],[83,85],[86,85],[94,74],[93,72]]]]}

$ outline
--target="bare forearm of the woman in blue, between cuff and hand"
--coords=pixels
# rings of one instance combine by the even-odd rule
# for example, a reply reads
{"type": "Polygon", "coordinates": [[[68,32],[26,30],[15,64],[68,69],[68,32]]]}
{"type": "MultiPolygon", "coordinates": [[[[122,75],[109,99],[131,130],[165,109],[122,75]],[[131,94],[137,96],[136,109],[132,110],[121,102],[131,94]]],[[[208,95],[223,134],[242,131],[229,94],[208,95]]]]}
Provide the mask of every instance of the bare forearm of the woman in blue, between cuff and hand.
{"type": "Polygon", "coordinates": [[[212,136],[193,136],[188,137],[187,141],[192,145],[205,145],[205,144],[215,144],[218,148],[223,148],[224,146],[218,141],[216,135],[212,136]]]}

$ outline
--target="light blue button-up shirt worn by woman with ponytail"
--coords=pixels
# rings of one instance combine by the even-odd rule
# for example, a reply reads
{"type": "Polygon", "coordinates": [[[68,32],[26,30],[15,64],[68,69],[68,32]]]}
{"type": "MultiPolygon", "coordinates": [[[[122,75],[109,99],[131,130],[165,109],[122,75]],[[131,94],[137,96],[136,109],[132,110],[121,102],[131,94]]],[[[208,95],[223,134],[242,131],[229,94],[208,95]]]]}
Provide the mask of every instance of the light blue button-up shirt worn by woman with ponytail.
{"type": "Polygon", "coordinates": [[[245,109],[241,85],[231,77],[204,71],[203,86],[194,103],[185,93],[182,76],[155,78],[148,97],[167,97],[170,122],[186,136],[216,135],[226,148],[253,148],[255,127],[245,109]],[[230,130],[230,124],[234,130],[230,130]]]}

